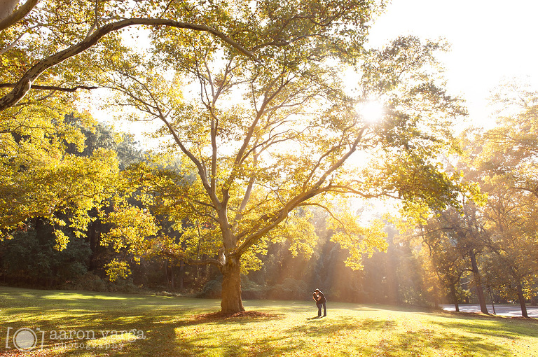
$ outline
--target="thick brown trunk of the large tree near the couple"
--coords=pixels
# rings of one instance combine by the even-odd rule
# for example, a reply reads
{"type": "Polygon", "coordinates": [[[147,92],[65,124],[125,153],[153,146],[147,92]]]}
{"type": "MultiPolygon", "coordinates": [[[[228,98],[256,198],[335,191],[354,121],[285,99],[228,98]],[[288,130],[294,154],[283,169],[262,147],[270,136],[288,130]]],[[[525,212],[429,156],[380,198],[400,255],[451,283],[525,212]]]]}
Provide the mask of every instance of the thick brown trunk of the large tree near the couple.
{"type": "Polygon", "coordinates": [[[221,268],[222,301],[221,311],[226,314],[235,314],[244,311],[241,300],[241,265],[237,258],[228,258],[221,268]]]}

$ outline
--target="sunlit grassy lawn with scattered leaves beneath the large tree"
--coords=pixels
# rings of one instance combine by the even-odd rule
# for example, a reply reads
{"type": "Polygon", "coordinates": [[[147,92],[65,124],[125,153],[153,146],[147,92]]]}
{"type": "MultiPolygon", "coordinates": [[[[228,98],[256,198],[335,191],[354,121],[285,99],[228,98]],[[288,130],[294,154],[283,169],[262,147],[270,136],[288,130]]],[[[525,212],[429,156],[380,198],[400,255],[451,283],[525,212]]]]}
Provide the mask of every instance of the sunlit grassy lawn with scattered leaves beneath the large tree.
{"type": "Polygon", "coordinates": [[[330,300],[328,316],[314,318],[314,302],[244,305],[265,314],[213,316],[217,300],[0,287],[0,356],[538,356],[535,319],[330,300]],[[20,328],[36,332],[38,349],[14,348],[14,335],[19,345],[32,336],[20,328]]]}

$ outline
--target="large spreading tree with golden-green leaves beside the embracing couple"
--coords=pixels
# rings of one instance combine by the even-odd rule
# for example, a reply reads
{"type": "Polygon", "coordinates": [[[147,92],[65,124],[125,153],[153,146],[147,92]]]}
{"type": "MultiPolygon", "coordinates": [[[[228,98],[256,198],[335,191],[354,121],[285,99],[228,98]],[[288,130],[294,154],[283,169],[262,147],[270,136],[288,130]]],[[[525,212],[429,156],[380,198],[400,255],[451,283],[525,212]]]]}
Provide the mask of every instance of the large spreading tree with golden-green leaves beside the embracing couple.
{"type": "MultiPolygon", "coordinates": [[[[269,10],[276,11],[259,11],[269,10]]],[[[439,43],[402,37],[364,52],[360,91],[352,96],[338,76],[339,65],[350,58],[326,38],[267,49],[256,63],[203,34],[177,41],[163,32],[154,38],[160,60],[137,67],[120,61],[116,73],[96,80],[122,93],[115,103],[138,109],[140,120],[160,122],[156,137],[181,155],[186,171],[180,175],[140,169],[151,181],[144,200],[152,210],[190,225],[182,237],[186,244],[147,230],[151,218],[135,218],[127,207],[118,213],[119,230],[106,239],[132,247],[135,255],[172,255],[218,267],[222,311],[244,310],[240,271],[256,262],[254,253],[267,239],[286,237],[294,248],[309,244],[313,230],[301,207],[331,212],[339,232],[333,240],[350,250],[348,264],[360,267],[364,252],[385,247],[381,226],[364,228],[352,215],[336,214],[330,207],[335,195],[393,197],[407,208],[443,209],[459,200],[460,175],[436,162],[453,150],[450,125],[464,113],[432,71],[439,43]],[[192,87],[199,88],[197,95],[192,87]],[[374,99],[383,105],[378,122],[366,111],[357,113],[374,99]],[[205,259],[193,254],[200,221],[205,259]],[[133,233],[127,237],[120,230],[128,226],[133,233]],[[144,239],[136,228],[155,237],[144,239]]]]}

